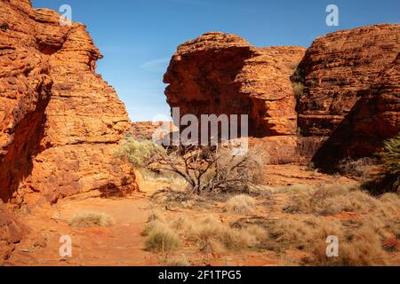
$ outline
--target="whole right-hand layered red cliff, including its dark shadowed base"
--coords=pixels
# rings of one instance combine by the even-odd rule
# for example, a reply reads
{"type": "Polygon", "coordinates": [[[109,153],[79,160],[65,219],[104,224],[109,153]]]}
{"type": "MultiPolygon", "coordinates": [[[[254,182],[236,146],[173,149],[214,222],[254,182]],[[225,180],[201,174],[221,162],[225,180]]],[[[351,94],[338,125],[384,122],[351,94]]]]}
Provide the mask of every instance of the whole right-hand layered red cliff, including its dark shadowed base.
{"type": "Polygon", "coordinates": [[[302,134],[327,139],[318,166],[371,156],[399,132],[399,52],[400,25],[336,32],[308,49],[297,109],[302,134]]]}

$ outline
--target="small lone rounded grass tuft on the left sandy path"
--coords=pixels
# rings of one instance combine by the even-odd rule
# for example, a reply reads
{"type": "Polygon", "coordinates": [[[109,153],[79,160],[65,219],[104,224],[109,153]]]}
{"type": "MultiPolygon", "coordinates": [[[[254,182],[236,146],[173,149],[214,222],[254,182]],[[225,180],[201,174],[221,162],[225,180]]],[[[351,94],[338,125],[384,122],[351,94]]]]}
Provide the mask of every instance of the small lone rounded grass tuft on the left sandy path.
{"type": "Polygon", "coordinates": [[[68,225],[78,228],[89,227],[109,227],[113,224],[113,219],[106,213],[84,212],[77,213],[68,221],[68,225]]]}

